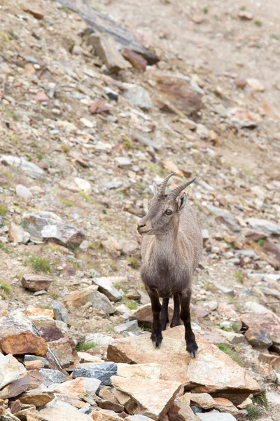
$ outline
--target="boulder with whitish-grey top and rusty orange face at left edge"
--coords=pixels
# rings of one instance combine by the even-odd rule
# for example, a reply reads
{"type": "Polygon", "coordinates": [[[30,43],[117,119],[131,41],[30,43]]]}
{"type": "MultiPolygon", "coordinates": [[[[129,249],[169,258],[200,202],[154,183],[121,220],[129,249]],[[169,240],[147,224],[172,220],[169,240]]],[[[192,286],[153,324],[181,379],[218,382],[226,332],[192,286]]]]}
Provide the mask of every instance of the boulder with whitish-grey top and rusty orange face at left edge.
{"type": "Polygon", "coordinates": [[[0,349],[6,354],[39,356],[48,351],[47,344],[34,323],[18,310],[0,318],[0,349]]]}

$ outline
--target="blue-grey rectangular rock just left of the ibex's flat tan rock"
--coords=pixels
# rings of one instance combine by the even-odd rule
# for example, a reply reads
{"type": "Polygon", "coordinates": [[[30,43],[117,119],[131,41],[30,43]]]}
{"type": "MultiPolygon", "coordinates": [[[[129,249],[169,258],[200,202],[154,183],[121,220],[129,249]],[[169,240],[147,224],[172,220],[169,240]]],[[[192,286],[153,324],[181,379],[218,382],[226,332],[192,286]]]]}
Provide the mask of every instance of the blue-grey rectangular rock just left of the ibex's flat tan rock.
{"type": "Polygon", "coordinates": [[[101,380],[101,385],[109,386],[112,375],[117,375],[117,371],[116,363],[85,363],[74,368],[73,379],[90,377],[101,380]]]}

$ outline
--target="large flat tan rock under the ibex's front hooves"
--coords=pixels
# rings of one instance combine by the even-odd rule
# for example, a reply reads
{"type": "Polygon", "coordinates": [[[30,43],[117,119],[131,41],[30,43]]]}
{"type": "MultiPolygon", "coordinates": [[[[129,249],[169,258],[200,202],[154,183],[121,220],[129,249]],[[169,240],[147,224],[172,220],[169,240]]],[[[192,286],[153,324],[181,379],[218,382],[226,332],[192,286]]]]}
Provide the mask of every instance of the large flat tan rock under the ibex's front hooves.
{"type": "Polygon", "coordinates": [[[186,352],[183,326],[165,330],[162,335],[160,349],[153,348],[150,335],[117,340],[109,345],[107,359],[117,363],[158,363],[162,380],[181,382],[187,390],[208,392],[235,404],[260,390],[244,368],[198,333],[196,359],[186,352]]]}

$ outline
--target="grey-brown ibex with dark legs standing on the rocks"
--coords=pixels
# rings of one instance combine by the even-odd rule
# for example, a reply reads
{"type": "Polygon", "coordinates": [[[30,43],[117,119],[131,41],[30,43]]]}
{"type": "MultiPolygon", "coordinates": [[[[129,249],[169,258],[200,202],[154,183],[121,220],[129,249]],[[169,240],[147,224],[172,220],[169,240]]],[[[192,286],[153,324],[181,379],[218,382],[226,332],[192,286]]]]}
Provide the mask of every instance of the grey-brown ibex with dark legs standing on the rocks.
{"type": "Polygon", "coordinates": [[[161,346],[162,330],[169,321],[168,302],[173,295],[171,327],[179,326],[182,319],[187,350],[190,356],[197,356],[195,334],[190,326],[190,285],[202,255],[202,232],[195,210],[185,206],[186,193],[179,196],[195,178],[165,194],[172,175],[174,173],[167,175],[159,189],[153,182],[154,196],[148,203],[148,213],[137,227],[139,234],[145,234],[141,248],[141,278],[151,299],[154,347],[161,346]],[[163,298],[162,305],[160,298],[163,298]]]}

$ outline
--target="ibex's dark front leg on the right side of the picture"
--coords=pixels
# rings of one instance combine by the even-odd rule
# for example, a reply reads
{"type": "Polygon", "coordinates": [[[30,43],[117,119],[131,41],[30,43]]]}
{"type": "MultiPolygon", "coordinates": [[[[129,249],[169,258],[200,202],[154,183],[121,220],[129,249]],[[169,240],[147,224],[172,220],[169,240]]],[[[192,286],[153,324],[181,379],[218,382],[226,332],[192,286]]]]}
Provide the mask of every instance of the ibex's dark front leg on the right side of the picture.
{"type": "Polygon", "coordinates": [[[190,291],[180,296],[181,313],[180,317],[185,325],[185,339],[187,351],[190,356],[197,356],[197,342],[195,342],[195,334],[193,333],[192,326],[190,325],[190,291]]]}

